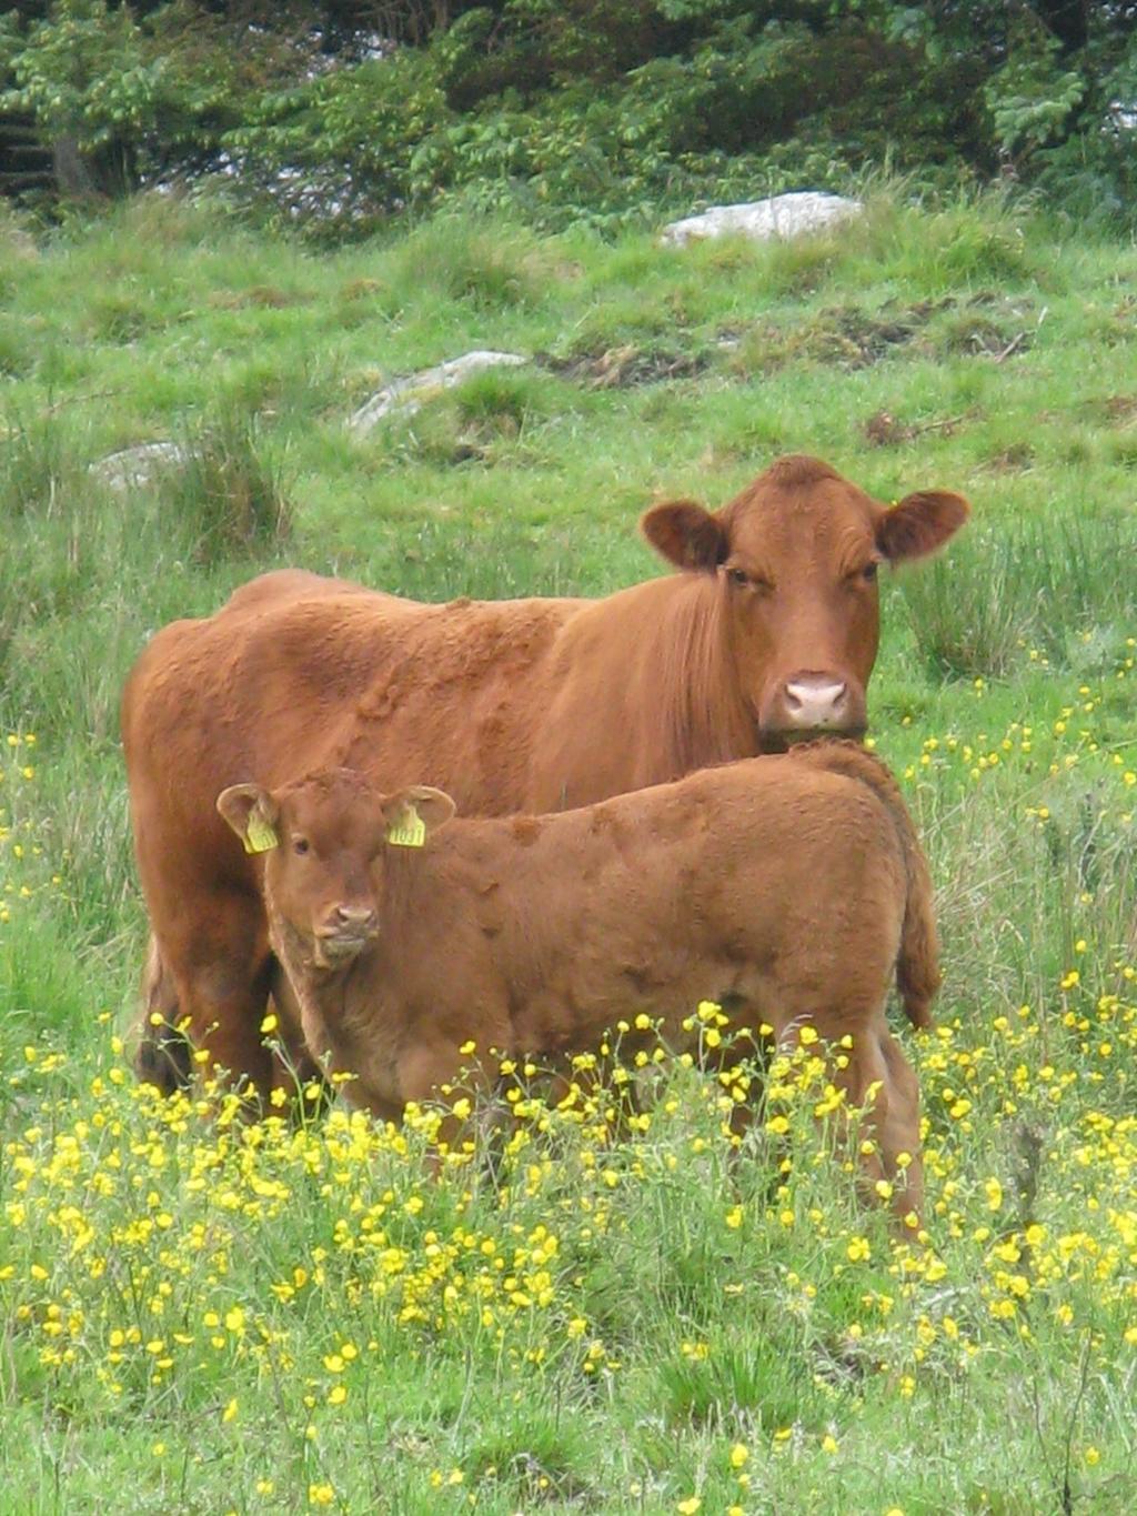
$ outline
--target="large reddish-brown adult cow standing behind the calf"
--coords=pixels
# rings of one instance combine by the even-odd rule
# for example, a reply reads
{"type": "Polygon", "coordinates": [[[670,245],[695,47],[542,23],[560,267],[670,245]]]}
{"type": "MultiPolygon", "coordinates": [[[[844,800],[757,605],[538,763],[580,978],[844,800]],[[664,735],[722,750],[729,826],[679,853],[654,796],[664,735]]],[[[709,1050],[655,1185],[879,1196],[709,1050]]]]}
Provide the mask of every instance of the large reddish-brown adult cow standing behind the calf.
{"type": "Polygon", "coordinates": [[[819,731],[858,735],[878,564],[932,552],[966,515],[958,494],[885,508],[817,459],[782,458],[720,511],[650,509],[644,534],[684,572],[602,600],[418,605],[283,572],[167,626],[123,696],[138,866],[171,988],[158,1014],[180,1008],[220,1066],[268,1085],[271,954],[253,863],[214,810],[226,785],[347,766],[500,816],[819,731]]]}

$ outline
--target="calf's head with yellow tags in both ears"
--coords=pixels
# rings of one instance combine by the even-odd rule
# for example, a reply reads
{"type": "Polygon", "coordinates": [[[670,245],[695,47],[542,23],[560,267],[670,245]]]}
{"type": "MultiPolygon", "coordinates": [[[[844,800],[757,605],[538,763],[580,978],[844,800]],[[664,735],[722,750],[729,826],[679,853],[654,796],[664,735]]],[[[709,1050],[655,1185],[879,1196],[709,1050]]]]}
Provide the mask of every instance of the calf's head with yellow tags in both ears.
{"type": "Polygon", "coordinates": [[[268,916],[318,969],[350,964],[379,934],[394,849],[421,847],[450,820],[453,800],[412,785],[379,794],[352,769],[265,790],[235,784],[217,810],[249,852],[264,854],[268,916]]]}

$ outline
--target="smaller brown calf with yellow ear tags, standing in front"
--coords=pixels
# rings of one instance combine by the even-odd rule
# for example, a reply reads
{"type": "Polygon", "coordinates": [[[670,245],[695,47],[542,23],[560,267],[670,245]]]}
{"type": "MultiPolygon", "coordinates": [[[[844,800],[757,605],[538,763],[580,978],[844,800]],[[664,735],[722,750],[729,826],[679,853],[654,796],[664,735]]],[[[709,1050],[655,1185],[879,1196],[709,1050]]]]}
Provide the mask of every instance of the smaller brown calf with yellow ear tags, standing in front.
{"type": "Polygon", "coordinates": [[[931,885],[891,776],[861,749],[543,817],[450,823],[443,791],[384,797],[347,769],[233,785],[217,808],[265,849],[270,940],[309,1051],[355,1075],[352,1102],[399,1119],[458,1078],[467,1040],[558,1057],[650,1011],[673,1046],[697,1045],[690,1013],[729,1002],[750,1051],[763,1022],[782,1049],[807,1026],[852,1038],[834,1082],[869,1107],[869,1176],[919,1208],[919,1090],[884,1007],[896,970],[928,1025],[931,885]]]}

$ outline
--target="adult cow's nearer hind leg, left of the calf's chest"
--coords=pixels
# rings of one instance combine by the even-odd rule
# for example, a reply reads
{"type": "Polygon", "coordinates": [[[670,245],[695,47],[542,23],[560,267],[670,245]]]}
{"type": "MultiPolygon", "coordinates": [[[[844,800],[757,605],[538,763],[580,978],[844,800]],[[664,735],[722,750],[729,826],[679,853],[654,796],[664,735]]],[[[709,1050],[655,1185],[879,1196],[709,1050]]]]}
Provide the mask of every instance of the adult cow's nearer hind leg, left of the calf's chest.
{"type": "Polygon", "coordinates": [[[193,920],[183,914],[158,944],[202,1072],[267,1096],[273,1055],[261,1022],[274,963],[259,899],[235,891],[196,899],[193,920]]]}

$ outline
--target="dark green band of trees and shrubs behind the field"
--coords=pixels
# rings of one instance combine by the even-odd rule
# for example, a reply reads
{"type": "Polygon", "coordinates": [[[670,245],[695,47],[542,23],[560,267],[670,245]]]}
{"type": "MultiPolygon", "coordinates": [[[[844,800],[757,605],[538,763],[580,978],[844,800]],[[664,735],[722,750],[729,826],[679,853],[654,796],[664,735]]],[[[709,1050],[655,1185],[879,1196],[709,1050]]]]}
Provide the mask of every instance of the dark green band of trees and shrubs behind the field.
{"type": "Polygon", "coordinates": [[[885,158],[1131,214],[1137,5],[111,0],[0,21],[0,185],[220,173],[323,232],[461,196],[541,224],[835,186],[885,158]],[[50,164],[50,174],[45,165],[50,164]]]}

